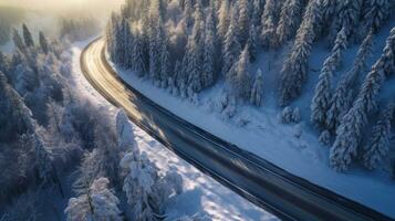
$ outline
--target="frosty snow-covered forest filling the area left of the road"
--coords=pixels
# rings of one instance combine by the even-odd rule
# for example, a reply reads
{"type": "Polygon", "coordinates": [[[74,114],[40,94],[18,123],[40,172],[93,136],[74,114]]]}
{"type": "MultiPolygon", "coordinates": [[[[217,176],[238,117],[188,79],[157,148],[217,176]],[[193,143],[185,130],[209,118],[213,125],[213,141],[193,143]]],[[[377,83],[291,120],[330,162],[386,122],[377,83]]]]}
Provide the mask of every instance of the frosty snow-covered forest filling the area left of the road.
{"type": "Polygon", "coordinates": [[[123,110],[112,118],[74,90],[70,42],[24,24],[12,40],[0,51],[0,220],[166,220],[183,178],[159,172],[123,110]]]}

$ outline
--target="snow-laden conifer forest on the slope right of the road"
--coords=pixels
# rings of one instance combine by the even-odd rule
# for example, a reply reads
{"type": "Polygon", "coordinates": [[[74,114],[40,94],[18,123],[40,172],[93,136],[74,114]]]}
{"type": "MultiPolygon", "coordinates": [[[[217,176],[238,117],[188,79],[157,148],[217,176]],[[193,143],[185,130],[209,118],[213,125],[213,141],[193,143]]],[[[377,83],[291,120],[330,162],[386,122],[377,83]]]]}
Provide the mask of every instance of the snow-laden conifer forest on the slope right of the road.
{"type": "Polygon", "coordinates": [[[126,0],[107,24],[107,51],[114,63],[191,103],[224,84],[220,112],[232,117],[236,106],[264,108],[267,67],[252,71],[251,64],[261,52],[285,50],[276,74],[281,122],[301,120],[293,104],[312,90],[306,120],[330,147],[330,167],[374,169],[394,131],[394,94],[380,95],[395,73],[395,28],[376,62],[367,66],[366,60],[394,11],[392,0],[126,0]],[[318,41],[329,53],[316,85],[306,88],[318,41]],[[358,48],[354,62],[343,66],[351,46],[358,48]],[[340,70],[346,71],[337,76],[340,70]]]}

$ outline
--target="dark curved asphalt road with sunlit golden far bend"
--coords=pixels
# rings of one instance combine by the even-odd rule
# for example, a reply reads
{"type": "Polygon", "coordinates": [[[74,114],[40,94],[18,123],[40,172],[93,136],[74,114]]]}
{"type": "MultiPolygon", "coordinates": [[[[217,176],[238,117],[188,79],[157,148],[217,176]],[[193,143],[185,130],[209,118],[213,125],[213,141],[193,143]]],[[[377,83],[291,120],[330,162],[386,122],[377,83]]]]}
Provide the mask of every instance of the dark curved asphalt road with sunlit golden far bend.
{"type": "Polygon", "coordinates": [[[81,67],[89,82],[137,126],[246,199],[283,220],[391,220],[175,116],[121,80],[104,52],[102,39],[83,51],[81,67]]]}

